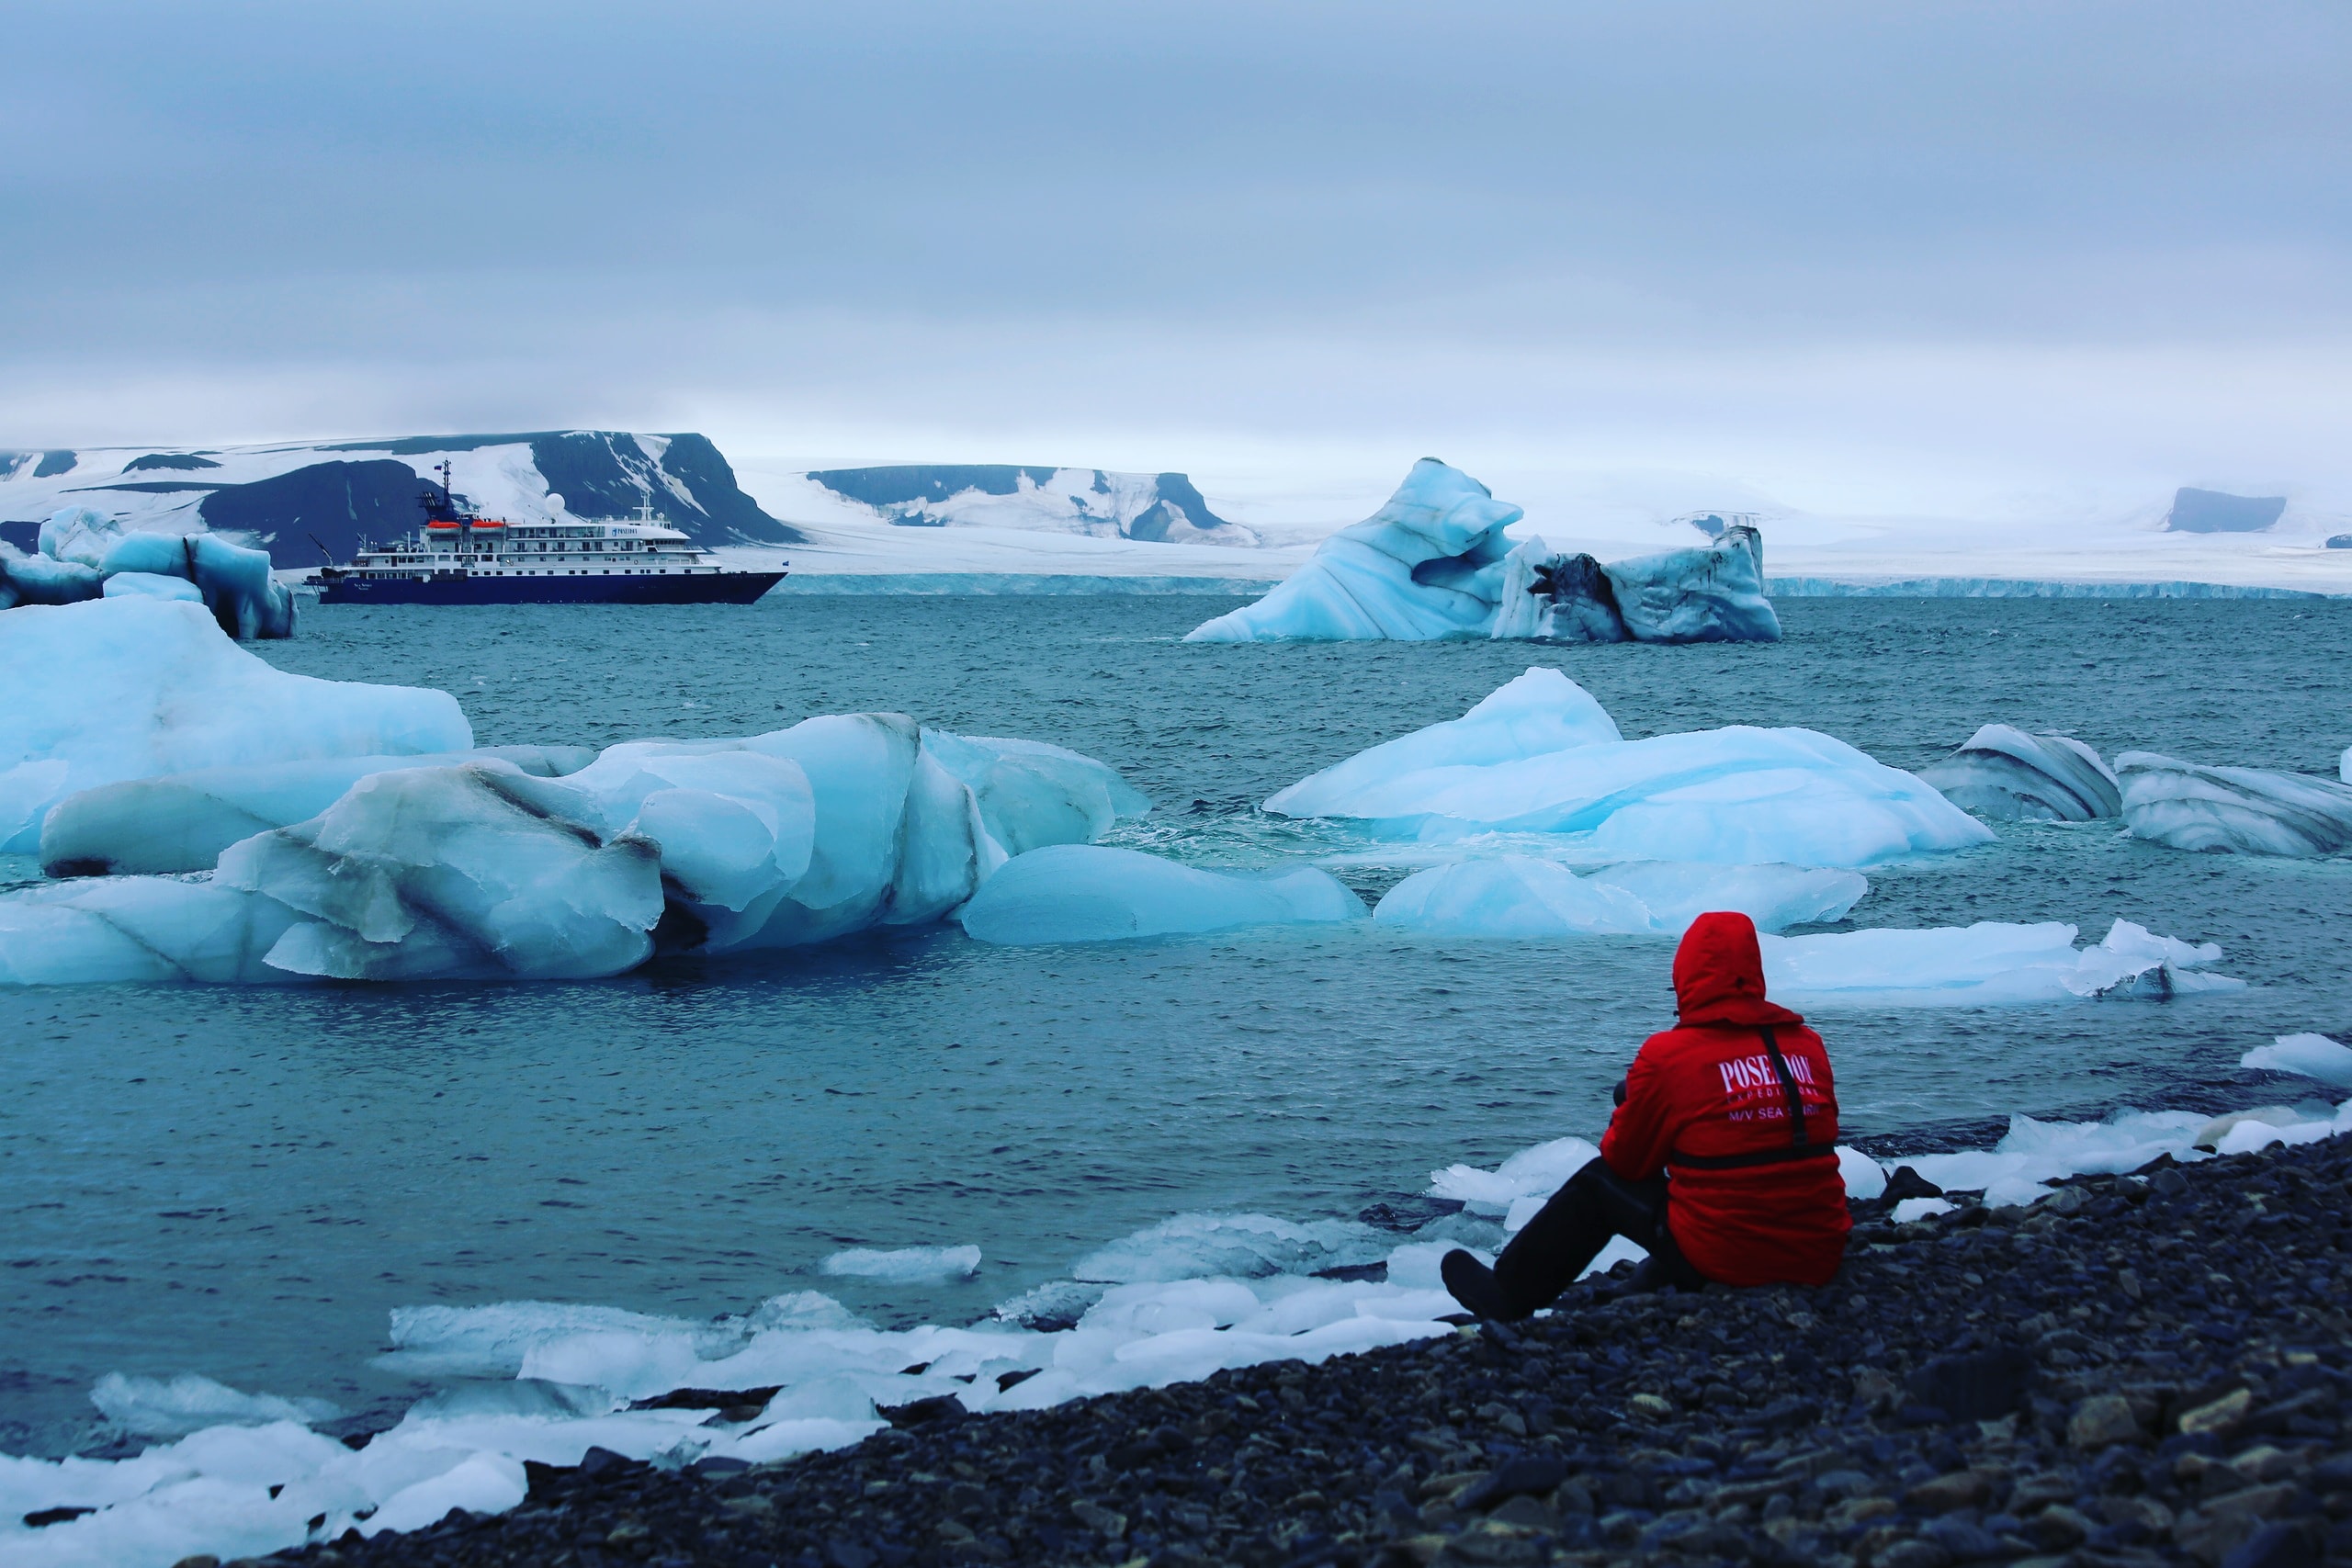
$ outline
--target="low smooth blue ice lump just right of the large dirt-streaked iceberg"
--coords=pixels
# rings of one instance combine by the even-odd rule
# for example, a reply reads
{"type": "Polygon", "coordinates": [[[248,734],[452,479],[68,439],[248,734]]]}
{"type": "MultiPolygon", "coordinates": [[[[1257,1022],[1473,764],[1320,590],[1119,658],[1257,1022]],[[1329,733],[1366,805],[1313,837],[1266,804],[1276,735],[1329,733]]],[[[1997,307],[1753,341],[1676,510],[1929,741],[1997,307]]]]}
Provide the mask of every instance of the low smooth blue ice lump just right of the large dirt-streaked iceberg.
{"type": "Polygon", "coordinates": [[[1214,872],[1134,849],[1061,844],[1009,860],[962,907],[964,933],[1007,947],[1362,919],[1329,872],[1214,872]]]}

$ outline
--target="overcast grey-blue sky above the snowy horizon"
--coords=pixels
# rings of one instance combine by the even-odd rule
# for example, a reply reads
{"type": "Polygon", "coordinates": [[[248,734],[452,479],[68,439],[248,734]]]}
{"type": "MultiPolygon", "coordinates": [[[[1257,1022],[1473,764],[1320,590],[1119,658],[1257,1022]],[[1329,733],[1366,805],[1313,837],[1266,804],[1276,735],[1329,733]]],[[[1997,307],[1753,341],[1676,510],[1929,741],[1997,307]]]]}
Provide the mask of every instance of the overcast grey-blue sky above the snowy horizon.
{"type": "Polygon", "coordinates": [[[2352,9],[49,5],[0,444],[2352,505],[2352,9]]]}

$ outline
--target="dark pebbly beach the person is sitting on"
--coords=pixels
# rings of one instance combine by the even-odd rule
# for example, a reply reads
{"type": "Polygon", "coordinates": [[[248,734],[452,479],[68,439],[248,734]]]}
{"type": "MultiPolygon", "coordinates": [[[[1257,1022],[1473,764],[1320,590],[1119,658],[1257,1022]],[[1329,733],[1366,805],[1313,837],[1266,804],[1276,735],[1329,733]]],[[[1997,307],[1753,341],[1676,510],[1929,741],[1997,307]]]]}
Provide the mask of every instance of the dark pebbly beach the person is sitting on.
{"type": "MultiPolygon", "coordinates": [[[[924,1401],[781,1465],[593,1450],[508,1514],[263,1561],[2352,1561],[2347,1178],[2336,1138],[1898,1225],[1931,1197],[1898,1173],[1820,1291],[1595,1276],[1519,1326],[1037,1413],[924,1401]]],[[[727,1422],[764,1392],[666,1399],[727,1422]]]]}

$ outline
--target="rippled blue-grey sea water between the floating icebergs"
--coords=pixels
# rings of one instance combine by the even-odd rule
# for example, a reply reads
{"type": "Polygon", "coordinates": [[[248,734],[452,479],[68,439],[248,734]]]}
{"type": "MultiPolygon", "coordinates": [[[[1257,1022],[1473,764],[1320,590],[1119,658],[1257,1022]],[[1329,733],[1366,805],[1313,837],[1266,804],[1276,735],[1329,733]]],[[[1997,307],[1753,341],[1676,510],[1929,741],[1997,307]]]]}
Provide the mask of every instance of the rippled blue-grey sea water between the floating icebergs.
{"type": "MultiPolygon", "coordinates": [[[[1788,599],[1769,646],[1185,644],[1214,599],[322,609],[256,644],[454,691],[480,743],[734,736],[887,708],[1054,741],[1157,804],[1112,842],[1204,865],[1404,875],[1272,790],[1529,663],[1628,736],[1806,724],[1922,766],[1999,719],[2105,755],[2333,773],[2352,604],[1788,599]]],[[[2352,1025],[2352,860],[2185,856],[2082,827],[1872,870],[1844,926],[2126,917],[2251,990],[2173,1004],[1823,1011],[1846,1126],[1985,1143],[2011,1112],[2225,1110],[2352,1025]]],[[[33,875],[28,865],[0,867],[33,875]]],[[[1597,1135],[1672,943],[1303,929],[985,947],[953,926],[583,985],[78,987],[0,997],[0,1450],[99,1432],[108,1373],[397,1413],[402,1305],[741,1312],[795,1288],[969,1321],[1176,1213],[1411,1208],[1430,1171],[1597,1135]],[[833,1276],[844,1248],[978,1246],[971,1276],[833,1276]]]]}

